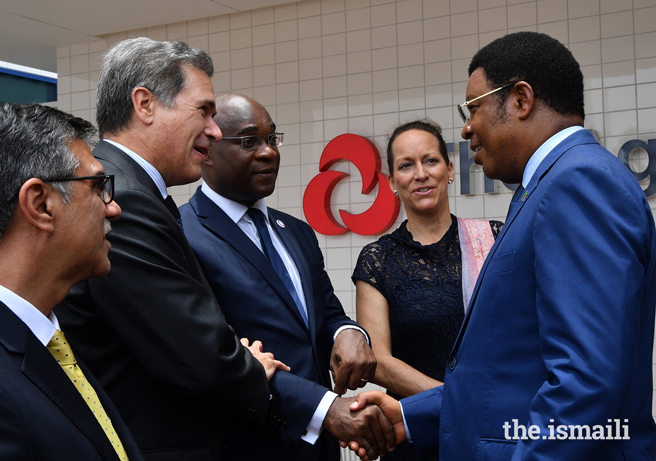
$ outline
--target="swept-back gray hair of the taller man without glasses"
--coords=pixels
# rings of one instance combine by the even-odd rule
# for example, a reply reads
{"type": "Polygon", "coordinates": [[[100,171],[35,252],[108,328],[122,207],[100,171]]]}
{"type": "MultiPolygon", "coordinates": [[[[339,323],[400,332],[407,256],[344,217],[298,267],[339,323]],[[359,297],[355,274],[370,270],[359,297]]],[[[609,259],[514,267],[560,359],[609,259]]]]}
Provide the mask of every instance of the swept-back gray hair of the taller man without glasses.
{"type": "Polygon", "coordinates": [[[181,41],[146,37],[123,40],[106,52],[96,88],[96,120],[102,139],[129,127],[134,112],[132,92],[145,87],[164,106],[173,107],[186,83],[185,67],[214,75],[209,53],[181,41]]]}

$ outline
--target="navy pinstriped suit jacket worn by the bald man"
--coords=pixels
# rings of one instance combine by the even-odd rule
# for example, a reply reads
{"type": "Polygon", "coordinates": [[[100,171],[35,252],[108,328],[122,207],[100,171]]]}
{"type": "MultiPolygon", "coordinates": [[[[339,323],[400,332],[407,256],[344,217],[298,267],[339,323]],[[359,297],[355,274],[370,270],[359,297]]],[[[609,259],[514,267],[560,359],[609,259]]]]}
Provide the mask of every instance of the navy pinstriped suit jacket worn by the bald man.
{"type": "Polygon", "coordinates": [[[289,214],[268,209],[272,228],[298,268],[308,306],[308,329],[266,256],[200,188],[180,207],[180,214],[185,235],[228,323],[239,336],[262,341],[264,350],[291,367],[291,372],[276,372],[270,381],[269,412],[277,430],[267,424],[264,433],[258,433],[244,424],[228,437],[234,446],[241,445],[241,451],[249,447],[249,453],[239,459],[312,460],[328,454],[328,459],[338,459],[337,441],[325,430],[314,446],[299,441],[331,388],[333,335],[342,325],[357,325],[344,315],[333,292],[314,231],[289,214]]]}

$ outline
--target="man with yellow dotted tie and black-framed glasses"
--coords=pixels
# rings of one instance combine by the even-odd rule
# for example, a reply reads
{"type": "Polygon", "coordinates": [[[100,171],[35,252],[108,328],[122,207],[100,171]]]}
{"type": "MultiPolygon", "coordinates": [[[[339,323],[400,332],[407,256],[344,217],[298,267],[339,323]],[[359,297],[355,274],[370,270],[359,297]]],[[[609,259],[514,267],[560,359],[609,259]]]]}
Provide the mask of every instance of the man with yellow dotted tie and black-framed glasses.
{"type": "Polygon", "coordinates": [[[141,460],[52,308],[110,270],[121,215],[91,123],[47,106],[0,108],[0,459],[141,460]]]}

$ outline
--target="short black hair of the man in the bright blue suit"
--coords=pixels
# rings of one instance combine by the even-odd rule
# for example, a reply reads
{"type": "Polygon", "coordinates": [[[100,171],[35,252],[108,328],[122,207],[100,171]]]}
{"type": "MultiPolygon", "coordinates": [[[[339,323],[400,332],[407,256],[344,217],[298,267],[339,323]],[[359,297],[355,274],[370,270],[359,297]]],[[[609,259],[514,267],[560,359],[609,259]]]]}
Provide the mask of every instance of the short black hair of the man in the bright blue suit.
{"type": "Polygon", "coordinates": [[[549,35],[531,31],[504,35],[474,54],[469,75],[478,68],[493,87],[525,81],[535,97],[556,113],[585,117],[581,66],[565,45],[549,35]]]}

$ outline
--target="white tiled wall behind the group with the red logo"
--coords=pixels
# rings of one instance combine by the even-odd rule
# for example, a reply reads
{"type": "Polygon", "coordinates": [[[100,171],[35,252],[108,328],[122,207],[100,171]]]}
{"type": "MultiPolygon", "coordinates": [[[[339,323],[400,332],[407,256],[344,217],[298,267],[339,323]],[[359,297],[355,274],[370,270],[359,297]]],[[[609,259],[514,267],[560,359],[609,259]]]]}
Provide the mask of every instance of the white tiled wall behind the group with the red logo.
{"type": "MultiPolygon", "coordinates": [[[[305,186],[318,173],[323,147],[338,134],[367,136],[382,153],[392,125],[429,115],[457,145],[461,122],[453,104],[464,100],[470,58],[516,30],[543,31],[569,46],[584,72],[586,128],[609,150],[617,154],[626,140],[656,138],[656,0],[306,0],[163,24],[57,49],[58,105],[94,119],[100,54],[121,39],[146,35],[203,47],[215,60],[216,92],[255,97],[285,132],[277,189],[268,202],[302,218],[305,186]]],[[[510,191],[458,195],[454,160],[452,212],[503,219],[510,191]]],[[[348,163],[335,168],[352,174],[333,195],[339,220],[338,208],[360,212],[375,194],[361,195],[357,169],[348,163]]],[[[171,193],[181,204],[196,187],[171,193]]],[[[649,202],[656,208],[656,197],[649,202]]],[[[404,216],[401,211],[393,228],[404,216]]],[[[337,296],[354,315],[352,266],[377,236],[318,238],[337,296]]]]}

